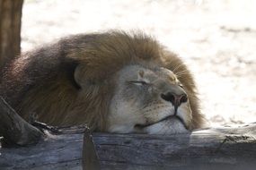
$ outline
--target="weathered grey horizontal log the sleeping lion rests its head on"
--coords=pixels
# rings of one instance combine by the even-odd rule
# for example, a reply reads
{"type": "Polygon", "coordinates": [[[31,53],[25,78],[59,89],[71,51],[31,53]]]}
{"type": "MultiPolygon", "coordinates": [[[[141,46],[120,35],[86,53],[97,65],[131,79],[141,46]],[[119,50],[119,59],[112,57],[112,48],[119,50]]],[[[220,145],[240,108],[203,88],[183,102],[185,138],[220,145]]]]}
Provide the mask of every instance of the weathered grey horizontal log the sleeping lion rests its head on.
{"type": "MultiPolygon", "coordinates": [[[[1,169],[82,169],[83,129],[0,149],[1,169]]],[[[93,133],[101,169],[255,169],[256,123],[190,134],[93,133]]]]}

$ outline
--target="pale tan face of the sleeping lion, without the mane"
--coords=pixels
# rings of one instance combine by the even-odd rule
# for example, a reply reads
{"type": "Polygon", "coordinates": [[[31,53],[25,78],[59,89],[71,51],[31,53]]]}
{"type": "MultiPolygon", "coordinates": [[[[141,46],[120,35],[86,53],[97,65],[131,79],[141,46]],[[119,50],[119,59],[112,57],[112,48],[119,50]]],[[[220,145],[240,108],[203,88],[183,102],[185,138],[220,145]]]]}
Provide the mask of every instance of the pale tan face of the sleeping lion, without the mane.
{"type": "Polygon", "coordinates": [[[188,132],[191,109],[186,91],[167,69],[128,65],[116,74],[108,132],[188,132]]]}

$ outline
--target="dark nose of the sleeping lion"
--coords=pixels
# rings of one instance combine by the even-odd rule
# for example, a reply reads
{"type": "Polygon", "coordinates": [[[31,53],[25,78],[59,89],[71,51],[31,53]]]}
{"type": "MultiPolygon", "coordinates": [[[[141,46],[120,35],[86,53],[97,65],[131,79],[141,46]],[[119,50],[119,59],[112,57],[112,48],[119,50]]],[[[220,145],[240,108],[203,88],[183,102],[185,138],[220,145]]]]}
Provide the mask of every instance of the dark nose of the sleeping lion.
{"type": "Polygon", "coordinates": [[[180,106],[181,103],[185,103],[188,101],[188,96],[186,93],[177,95],[175,93],[168,92],[166,94],[162,94],[161,98],[163,98],[166,101],[170,101],[173,106],[180,106]]]}

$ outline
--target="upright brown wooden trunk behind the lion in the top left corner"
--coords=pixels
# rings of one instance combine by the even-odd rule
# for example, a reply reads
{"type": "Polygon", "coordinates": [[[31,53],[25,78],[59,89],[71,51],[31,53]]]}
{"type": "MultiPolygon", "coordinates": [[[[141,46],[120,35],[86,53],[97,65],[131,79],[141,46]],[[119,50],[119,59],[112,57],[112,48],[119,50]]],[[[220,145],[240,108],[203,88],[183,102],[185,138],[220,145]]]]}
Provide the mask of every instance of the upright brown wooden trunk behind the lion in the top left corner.
{"type": "Polygon", "coordinates": [[[0,0],[0,70],[21,52],[23,0],[0,0]]]}

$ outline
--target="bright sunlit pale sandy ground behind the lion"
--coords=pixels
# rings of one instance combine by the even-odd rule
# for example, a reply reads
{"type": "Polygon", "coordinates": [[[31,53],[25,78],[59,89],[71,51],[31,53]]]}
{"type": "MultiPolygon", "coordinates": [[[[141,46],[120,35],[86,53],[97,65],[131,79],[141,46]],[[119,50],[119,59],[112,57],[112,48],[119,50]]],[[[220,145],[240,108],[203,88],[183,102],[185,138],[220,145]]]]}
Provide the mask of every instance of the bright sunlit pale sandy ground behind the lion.
{"type": "Polygon", "coordinates": [[[144,30],[195,74],[212,125],[256,122],[256,1],[27,0],[22,51],[65,35],[144,30]]]}

